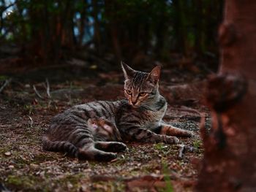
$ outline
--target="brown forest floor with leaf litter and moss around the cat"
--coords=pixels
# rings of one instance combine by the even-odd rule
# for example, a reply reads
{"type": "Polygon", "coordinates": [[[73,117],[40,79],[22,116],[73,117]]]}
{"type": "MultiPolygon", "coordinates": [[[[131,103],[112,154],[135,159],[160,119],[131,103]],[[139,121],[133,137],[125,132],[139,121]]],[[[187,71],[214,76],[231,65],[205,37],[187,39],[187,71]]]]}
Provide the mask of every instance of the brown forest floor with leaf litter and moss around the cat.
{"type": "Polygon", "coordinates": [[[0,88],[10,78],[0,93],[0,191],[192,191],[203,156],[201,117],[210,124],[198,102],[200,72],[164,68],[160,81],[169,103],[165,120],[195,137],[177,145],[127,143],[129,150],[108,163],[46,152],[41,138],[50,119],[75,104],[123,98],[121,69],[68,65],[7,72],[0,75],[0,88]]]}

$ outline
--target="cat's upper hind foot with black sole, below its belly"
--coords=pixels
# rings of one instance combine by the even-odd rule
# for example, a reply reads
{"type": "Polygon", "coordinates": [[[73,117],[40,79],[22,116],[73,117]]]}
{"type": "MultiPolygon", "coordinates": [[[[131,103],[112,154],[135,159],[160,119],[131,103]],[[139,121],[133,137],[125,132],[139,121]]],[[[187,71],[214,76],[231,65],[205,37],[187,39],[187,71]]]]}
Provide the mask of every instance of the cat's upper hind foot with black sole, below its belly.
{"type": "Polygon", "coordinates": [[[94,146],[108,152],[121,152],[127,149],[127,145],[122,142],[95,142],[94,146]]]}

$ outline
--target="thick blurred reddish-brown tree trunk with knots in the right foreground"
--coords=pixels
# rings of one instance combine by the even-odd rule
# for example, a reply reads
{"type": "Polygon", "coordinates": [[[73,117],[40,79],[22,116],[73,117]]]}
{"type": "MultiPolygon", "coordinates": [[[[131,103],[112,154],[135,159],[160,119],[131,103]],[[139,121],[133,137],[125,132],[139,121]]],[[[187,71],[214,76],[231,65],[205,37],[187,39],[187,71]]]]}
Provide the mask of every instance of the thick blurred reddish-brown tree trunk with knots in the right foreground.
{"type": "Polygon", "coordinates": [[[226,0],[219,28],[222,63],[208,82],[212,130],[197,191],[256,190],[256,1],[226,0]]]}

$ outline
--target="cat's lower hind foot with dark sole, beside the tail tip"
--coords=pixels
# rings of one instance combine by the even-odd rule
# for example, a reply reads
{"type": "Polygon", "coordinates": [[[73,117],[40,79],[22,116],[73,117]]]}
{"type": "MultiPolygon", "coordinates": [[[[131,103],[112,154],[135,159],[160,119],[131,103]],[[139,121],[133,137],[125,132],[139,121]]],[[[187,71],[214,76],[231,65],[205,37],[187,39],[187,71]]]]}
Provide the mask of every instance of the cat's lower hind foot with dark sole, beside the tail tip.
{"type": "Polygon", "coordinates": [[[109,153],[98,150],[94,147],[94,143],[86,144],[78,149],[78,159],[94,160],[94,161],[111,161],[116,158],[116,153],[109,153]]]}

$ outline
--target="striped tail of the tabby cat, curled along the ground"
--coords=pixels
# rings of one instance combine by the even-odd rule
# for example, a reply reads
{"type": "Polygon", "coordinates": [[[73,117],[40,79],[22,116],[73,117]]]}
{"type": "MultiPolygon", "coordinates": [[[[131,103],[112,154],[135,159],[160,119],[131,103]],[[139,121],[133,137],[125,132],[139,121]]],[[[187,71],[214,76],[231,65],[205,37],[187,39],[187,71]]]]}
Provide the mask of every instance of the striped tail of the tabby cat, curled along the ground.
{"type": "Polygon", "coordinates": [[[78,148],[67,141],[51,141],[47,136],[42,137],[42,149],[48,151],[67,153],[72,157],[78,156],[78,148]]]}

